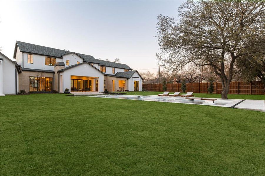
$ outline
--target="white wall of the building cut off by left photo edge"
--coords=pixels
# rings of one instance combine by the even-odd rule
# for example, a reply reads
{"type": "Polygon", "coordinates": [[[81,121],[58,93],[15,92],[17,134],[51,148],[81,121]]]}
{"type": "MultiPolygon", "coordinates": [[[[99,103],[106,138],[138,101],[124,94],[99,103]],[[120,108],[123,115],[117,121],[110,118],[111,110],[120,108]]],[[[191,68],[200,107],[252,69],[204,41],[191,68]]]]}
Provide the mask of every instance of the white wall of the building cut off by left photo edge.
{"type": "MultiPolygon", "coordinates": [[[[0,55],[1,60],[1,92],[2,94],[16,94],[16,66],[13,62],[0,55]]],[[[0,92],[0,94],[1,94],[0,92]]]]}

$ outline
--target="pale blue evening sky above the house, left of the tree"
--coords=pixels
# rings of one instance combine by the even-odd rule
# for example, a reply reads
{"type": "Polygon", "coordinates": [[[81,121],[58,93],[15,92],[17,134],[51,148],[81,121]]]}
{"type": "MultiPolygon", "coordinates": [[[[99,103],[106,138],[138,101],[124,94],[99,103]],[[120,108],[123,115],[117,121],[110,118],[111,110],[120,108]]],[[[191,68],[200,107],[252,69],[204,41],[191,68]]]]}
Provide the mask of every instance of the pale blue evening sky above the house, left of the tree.
{"type": "MultiPolygon", "coordinates": [[[[157,15],[177,17],[181,1],[1,1],[0,46],[15,41],[94,56],[133,69],[156,68],[157,15]]],[[[150,70],[156,72],[156,69],[150,70]]]]}

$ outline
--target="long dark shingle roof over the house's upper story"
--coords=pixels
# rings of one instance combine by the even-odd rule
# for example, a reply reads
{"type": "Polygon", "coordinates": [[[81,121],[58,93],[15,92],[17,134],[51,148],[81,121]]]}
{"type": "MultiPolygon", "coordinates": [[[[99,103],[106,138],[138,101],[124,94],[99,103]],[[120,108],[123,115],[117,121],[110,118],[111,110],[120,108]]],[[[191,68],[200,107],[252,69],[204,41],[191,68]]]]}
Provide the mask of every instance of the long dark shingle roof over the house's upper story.
{"type": "MultiPolygon", "coordinates": [[[[62,56],[66,54],[75,53],[71,51],[65,51],[65,50],[60,50],[56,48],[50,48],[46,46],[34,45],[31,43],[16,41],[15,50],[14,50],[14,58],[16,58],[16,50],[18,47],[21,52],[47,55],[47,56],[53,56],[53,57],[59,57],[59,58],[62,58],[62,56]]],[[[116,67],[116,68],[132,70],[131,67],[129,67],[126,64],[110,62],[106,60],[99,60],[99,59],[95,59],[91,55],[85,55],[81,53],[75,53],[75,54],[81,57],[86,62],[96,63],[96,64],[107,66],[107,67],[116,67]]]]}

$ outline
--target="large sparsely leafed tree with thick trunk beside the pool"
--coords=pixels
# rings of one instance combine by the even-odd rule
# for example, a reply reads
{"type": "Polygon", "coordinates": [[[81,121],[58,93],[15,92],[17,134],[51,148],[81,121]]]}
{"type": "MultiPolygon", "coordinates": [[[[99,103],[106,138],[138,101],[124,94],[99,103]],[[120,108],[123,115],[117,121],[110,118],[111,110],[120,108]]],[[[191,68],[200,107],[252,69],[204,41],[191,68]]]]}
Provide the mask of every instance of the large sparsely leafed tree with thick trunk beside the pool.
{"type": "Polygon", "coordinates": [[[179,21],[158,16],[157,57],[171,70],[190,62],[213,67],[222,82],[221,97],[227,98],[235,61],[263,52],[252,41],[264,40],[264,8],[264,1],[186,1],[179,8],[179,21]]]}

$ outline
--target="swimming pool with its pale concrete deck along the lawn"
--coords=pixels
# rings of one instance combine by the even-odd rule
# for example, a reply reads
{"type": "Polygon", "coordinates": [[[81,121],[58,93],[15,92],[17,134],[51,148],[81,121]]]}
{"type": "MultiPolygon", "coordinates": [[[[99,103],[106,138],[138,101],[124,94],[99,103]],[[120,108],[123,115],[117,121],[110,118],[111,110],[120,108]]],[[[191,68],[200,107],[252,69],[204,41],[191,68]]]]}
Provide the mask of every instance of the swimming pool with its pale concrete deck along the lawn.
{"type": "Polygon", "coordinates": [[[252,111],[261,111],[265,112],[265,101],[264,100],[244,100],[244,99],[220,99],[215,98],[214,103],[204,103],[204,100],[199,98],[205,97],[196,97],[196,99],[186,99],[185,97],[169,97],[169,96],[157,96],[157,95],[96,95],[93,97],[101,98],[116,98],[116,99],[132,99],[132,100],[141,100],[141,101],[159,101],[159,102],[168,102],[168,103],[182,103],[182,104],[198,104],[206,106],[219,106],[219,107],[229,107],[236,109],[247,109],[252,111]]]}

